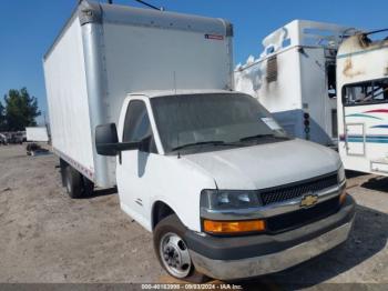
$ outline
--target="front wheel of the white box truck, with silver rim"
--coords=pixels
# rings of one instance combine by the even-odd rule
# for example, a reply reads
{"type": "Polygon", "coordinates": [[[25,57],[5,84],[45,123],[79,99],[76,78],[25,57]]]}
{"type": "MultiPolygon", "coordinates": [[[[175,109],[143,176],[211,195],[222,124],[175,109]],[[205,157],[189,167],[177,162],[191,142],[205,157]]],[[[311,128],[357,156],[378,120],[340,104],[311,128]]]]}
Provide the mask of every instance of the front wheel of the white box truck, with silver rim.
{"type": "Polygon", "coordinates": [[[184,232],[185,228],[175,214],[160,221],[153,233],[156,257],[172,277],[193,283],[207,282],[210,278],[195,270],[183,240],[184,232]]]}

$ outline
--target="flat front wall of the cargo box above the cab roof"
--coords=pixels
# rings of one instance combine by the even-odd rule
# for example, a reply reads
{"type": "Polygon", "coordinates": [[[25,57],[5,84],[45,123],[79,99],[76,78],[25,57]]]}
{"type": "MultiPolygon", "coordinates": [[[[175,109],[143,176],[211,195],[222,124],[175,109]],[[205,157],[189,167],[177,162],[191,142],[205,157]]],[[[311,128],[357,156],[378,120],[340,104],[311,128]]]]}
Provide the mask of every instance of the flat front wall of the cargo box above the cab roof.
{"type": "Polygon", "coordinates": [[[103,28],[111,122],[118,122],[131,92],[231,88],[229,37],[114,23],[103,28]]]}

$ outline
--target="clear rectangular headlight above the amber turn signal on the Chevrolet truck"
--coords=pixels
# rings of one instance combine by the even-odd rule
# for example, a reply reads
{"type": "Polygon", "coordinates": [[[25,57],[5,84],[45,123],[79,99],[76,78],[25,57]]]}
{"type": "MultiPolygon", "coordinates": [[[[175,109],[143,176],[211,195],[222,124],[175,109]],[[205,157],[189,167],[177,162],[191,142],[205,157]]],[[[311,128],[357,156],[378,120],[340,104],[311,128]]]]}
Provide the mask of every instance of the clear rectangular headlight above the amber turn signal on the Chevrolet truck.
{"type": "Polygon", "coordinates": [[[243,209],[261,205],[257,191],[203,190],[201,207],[213,210],[243,209]]]}

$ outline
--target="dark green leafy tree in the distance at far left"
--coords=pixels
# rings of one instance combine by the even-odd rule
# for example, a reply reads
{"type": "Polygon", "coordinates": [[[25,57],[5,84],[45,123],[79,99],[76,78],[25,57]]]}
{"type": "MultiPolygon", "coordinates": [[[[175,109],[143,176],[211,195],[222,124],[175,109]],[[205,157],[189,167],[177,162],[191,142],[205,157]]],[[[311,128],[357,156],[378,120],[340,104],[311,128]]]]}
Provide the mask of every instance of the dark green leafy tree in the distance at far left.
{"type": "Polygon", "coordinates": [[[35,118],[41,114],[38,100],[30,97],[27,88],[11,89],[6,101],[6,128],[8,131],[24,130],[25,127],[37,126],[35,118]]]}

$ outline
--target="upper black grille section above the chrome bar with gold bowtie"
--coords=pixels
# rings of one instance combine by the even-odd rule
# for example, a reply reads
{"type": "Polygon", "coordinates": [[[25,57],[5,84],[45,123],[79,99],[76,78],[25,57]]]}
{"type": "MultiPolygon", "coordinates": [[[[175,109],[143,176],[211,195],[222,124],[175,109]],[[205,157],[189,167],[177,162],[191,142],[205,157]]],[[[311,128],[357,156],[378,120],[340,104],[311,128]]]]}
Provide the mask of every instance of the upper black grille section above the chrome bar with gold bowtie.
{"type": "Polygon", "coordinates": [[[338,184],[337,172],[314,180],[302,181],[286,187],[261,191],[263,205],[283,202],[338,184]]]}

